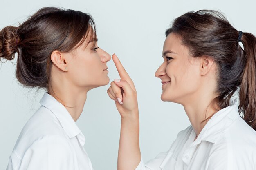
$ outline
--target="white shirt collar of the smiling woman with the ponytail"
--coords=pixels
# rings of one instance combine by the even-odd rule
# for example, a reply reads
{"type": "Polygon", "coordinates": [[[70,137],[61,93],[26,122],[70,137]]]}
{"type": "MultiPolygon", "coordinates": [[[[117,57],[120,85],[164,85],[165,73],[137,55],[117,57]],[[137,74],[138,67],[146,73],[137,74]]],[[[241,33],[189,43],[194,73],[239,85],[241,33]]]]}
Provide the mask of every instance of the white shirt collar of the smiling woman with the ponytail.
{"type": "MultiPolygon", "coordinates": [[[[218,137],[220,137],[225,129],[240,117],[236,100],[232,99],[230,104],[230,106],[219,110],[209,119],[192,145],[200,144],[201,141],[216,143],[218,137]]],[[[194,129],[193,131],[195,133],[194,129]]]]}

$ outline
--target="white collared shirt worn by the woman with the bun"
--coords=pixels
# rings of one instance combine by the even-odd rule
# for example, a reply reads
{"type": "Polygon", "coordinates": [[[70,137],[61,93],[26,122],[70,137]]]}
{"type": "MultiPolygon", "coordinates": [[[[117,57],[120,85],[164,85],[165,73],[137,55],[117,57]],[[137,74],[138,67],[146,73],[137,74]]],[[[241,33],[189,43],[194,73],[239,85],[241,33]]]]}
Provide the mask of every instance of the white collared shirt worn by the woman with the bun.
{"type": "Polygon", "coordinates": [[[85,137],[67,109],[48,93],[40,104],[22,129],[7,170],[93,170],[85,137]]]}

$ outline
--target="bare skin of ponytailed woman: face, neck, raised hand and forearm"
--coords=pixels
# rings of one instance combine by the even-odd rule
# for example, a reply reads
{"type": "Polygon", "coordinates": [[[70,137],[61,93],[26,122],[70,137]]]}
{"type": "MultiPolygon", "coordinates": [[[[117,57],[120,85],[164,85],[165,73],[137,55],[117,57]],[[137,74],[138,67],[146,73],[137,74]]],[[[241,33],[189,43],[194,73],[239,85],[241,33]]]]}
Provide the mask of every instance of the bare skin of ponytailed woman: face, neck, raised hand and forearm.
{"type": "MultiPolygon", "coordinates": [[[[189,48],[174,33],[170,33],[164,41],[163,59],[164,62],[155,72],[162,82],[161,99],[182,104],[198,136],[217,112],[211,104],[217,96],[216,63],[209,56],[192,57],[189,48]]],[[[141,159],[137,93],[117,56],[113,55],[113,61],[121,78],[120,81],[115,79],[111,82],[107,91],[110,98],[115,100],[121,115],[117,169],[134,170],[141,159]]]]}

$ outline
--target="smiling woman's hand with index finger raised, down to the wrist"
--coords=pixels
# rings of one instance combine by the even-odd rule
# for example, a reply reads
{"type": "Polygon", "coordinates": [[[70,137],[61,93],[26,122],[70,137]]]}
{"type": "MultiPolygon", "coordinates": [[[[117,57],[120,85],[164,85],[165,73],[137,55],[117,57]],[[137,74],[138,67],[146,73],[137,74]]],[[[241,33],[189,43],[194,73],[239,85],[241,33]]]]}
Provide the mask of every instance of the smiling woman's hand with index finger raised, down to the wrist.
{"type": "Polygon", "coordinates": [[[124,69],[117,55],[113,54],[112,59],[115,63],[120,79],[115,79],[110,83],[107,93],[116,103],[117,110],[121,116],[137,113],[138,102],[137,92],[132,79],[124,69]]]}

